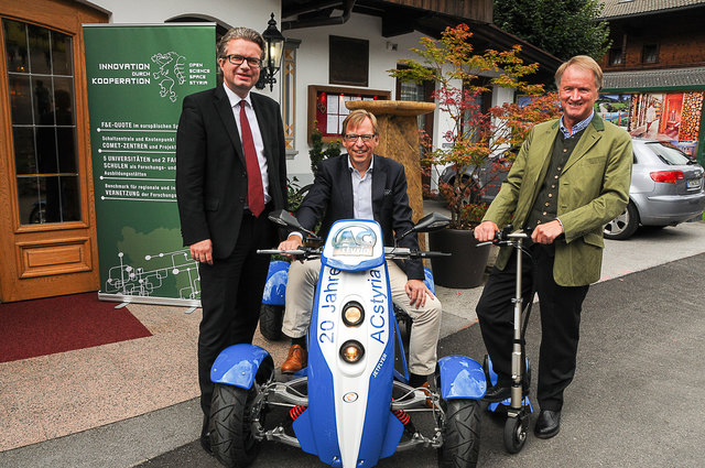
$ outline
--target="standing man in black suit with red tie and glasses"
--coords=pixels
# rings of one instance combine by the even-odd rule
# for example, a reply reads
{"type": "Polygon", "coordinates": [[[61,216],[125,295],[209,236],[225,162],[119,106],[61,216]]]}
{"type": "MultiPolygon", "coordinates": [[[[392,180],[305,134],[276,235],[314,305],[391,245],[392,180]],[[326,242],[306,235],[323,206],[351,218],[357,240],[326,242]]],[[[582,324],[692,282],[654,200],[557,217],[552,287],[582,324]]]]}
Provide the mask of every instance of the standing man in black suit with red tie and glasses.
{"type": "Polygon", "coordinates": [[[210,453],[210,367],[226,347],[251,342],[269,258],[278,240],[267,215],[286,205],[286,157],[279,104],[251,94],[264,41],[247,28],[218,43],[224,84],[186,96],[176,134],[176,196],[184,246],[199,262],[203,319],[198,382],[210,453]]]}

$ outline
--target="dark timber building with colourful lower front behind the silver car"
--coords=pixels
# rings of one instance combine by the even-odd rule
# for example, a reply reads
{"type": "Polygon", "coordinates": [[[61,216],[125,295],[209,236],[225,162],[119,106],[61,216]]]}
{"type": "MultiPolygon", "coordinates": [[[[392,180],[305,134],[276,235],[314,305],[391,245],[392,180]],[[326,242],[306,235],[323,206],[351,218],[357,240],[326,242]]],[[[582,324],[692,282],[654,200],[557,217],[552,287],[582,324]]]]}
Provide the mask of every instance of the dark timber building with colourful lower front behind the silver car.
{"type": "Polygon", "coordinates": [[[605,0],[603,116],[634,137],[671,141],[703,163],[705,1],[605,0]]]}

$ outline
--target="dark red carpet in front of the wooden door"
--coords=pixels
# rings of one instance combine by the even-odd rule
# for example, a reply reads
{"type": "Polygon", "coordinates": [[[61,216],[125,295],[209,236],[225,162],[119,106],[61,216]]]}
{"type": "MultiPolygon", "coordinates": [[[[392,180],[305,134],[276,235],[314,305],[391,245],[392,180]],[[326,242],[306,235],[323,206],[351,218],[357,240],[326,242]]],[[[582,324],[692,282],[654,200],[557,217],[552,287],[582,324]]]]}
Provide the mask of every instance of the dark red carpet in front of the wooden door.
{"type": "Polygon", "coordinates": [[[0,304],[0,362],[152,335],[116,305],[97,293],[0,304]]]}

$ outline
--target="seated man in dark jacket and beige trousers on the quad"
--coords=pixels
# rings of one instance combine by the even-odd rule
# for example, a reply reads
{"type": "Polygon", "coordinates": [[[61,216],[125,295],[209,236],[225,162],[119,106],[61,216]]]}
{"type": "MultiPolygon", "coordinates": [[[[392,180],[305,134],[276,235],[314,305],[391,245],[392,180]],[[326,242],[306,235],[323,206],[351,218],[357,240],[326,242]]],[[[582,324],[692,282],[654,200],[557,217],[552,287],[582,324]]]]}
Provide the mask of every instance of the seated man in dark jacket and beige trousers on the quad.
{"type": "MultiPolygon", "coordinates": [[[[316,179],[296,217],[308,230],[322,219],[319,235],[323,238],[338,219],[373,219],[382,228],[384,244],[393,246],[394,232],[405,232],[413,226],[404,166],[373,153],[379,133],[377,119],[368,111],[355,110],[345,119],[343,144],[348,153],[318,165],[316,179]]],[[[293,250],[301,244],[301,235],[293,232],[279,248],[293,250]]],[[[416,236],[404,237],[399,246],[417,249],[416,236]]],[[[423,283],[421,260],[406,261],[405,271],[394,262],[387,265],[392,301],[413,320],[409,345],[410,385],[427,387],[427,377],[436,368],[441,302],[423,283]]],[[[292,347],[282,364],[284,373],[296,372],[306,364],[305,336],[319,270],[319,260],[294,262],[289,270],[282,331],[292,338],[292,347]]]]}

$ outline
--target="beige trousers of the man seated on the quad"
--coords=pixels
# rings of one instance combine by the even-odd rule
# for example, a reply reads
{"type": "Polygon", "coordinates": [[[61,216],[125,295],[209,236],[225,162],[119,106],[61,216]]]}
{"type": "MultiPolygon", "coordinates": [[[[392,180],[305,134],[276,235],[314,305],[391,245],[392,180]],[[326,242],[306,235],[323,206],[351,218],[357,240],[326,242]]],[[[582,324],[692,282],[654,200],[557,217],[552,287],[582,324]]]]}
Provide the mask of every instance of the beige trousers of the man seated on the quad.
{"type": "MultiPolygon", "coordinates": [[[[436,370],[438,330],[441,329],[441,301],[426,296],[423,307],[412,307],[406,295],[406,274],[394,263],[387,262],[392,302],[403,308],[412,319],[409,344],[409,371],[430,376],[436,370]]],[[[308,331],[321,260],[292,262],[286,280],[286,308],[282,331],[290,338],[301,338],[308,331]]]]}

